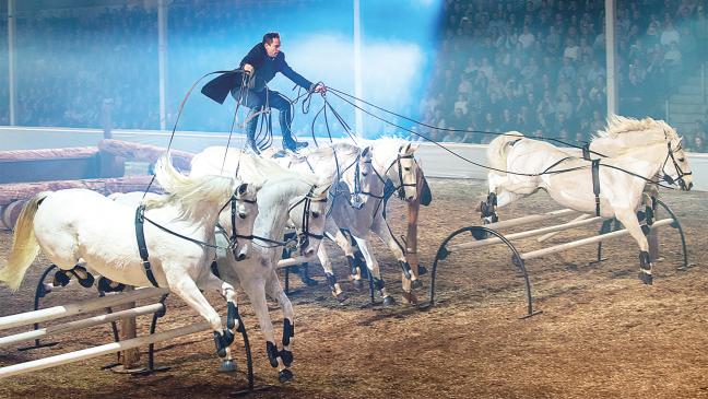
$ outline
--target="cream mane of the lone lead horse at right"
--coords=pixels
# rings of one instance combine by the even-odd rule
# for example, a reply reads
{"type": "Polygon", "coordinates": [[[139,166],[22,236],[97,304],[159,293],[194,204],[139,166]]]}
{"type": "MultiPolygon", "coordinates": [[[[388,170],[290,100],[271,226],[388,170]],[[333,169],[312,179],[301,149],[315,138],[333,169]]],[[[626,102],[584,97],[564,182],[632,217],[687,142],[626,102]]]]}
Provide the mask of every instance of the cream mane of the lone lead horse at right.
{"type": "Polygon", "coordinates": [[[607,126],[590,141],[590,149],[609,156],[622,155],[637,148],[680,139],[663,120],[636,119],[618,115],[607,117],[607,126]]]}

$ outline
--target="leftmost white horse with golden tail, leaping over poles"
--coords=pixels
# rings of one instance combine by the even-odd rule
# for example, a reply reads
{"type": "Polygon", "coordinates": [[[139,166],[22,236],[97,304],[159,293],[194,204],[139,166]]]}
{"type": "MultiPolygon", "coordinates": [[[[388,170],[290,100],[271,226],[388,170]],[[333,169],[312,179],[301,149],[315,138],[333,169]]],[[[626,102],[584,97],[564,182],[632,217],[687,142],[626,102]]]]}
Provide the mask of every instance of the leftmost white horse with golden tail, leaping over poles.
{"type": "MultiPolygon", "coordinates": [[[[36,195],[17,219],[0,281],[16,290],[42,249],[62,270],[82,262],[115,282],[168,289],[211,324],[216,351],[223,357],[238,327],[234,317],[236,292],[212,275],[209,266],[214,257],[219,212],[236,200],[234,192],[240,183],[221,176],[184,176],[172,166],[168,155],[157,162],[155,176],[168,195],[146,201],[138,210],[86,189],[36,195]],[[142,243],[137,239],[137,220],[144,221],[142,243]],[[200,289],[216,291],[228,302],[226,329],[200,289]]],[[[250,231],[247,224],[252,222],[239,220],[237,230],[250,231]]],[[[248,244],[239,242],[237,250],[248,244]]]]}

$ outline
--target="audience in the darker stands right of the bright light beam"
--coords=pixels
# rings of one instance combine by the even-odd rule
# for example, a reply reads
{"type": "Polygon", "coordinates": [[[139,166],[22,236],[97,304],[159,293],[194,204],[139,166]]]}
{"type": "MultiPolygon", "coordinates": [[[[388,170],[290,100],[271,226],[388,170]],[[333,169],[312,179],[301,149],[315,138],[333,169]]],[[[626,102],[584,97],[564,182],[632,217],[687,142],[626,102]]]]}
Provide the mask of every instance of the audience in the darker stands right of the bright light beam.
{"type": "MultiPolygon", "coordinates": [[[[668,95],[706,60],[705,5],[617,2],[620,114],[665,118],[668,95]]],[[[422,114],[433,116],[433,126],[445,120],[456,129],[588,140],[606,113],[603,8],[598,1],[445,0],[442,54],[422,114]]],[[[703,148],[705,129],[682,133],[703,148]]],[[[488,142],[489,136],[442,139],[488,142]]]]}

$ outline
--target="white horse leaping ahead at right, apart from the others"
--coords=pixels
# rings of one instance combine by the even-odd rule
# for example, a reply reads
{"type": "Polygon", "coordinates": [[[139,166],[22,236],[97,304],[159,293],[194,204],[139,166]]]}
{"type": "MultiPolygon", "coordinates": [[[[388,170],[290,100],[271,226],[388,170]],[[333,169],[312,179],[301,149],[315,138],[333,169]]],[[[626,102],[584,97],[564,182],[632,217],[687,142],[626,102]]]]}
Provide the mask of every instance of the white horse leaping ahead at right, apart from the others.
{"type": "Polygon", "coordinates": [[[598,200],[589,161],[569,156],[566,151],[527,139],[519,132],[497,137],[489,143],[487,156],[492,167],[509,173],[489,172],[489,192],[496,196],[488,201],[489,206],[496,200],[496,206],[504,207],[544,189],[564,207],[616,218],[639,245],[639,278],[651,284],[649,246],[635,210],[642,200],[645,186],[658,174],[683,190],[693,187],[682,139],[661,120],[612,117],[593,142],[595,150],[612,155],[599,162],[598,200]]]}

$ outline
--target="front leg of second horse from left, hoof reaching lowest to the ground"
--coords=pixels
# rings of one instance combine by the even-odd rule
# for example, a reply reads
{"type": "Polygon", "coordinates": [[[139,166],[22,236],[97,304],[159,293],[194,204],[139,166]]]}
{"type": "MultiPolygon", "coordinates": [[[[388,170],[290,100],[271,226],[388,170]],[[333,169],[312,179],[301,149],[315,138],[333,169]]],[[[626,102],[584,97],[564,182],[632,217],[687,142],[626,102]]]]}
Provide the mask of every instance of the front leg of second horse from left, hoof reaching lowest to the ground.
{"type": "MultiPolygon", "coordinates": [[[[266,272],[268,274],[268,272],[266,272]]],[[[251,301],[251,306],[253,306],[253,312],[256,317],[258,317],[258,324],[266,338],[266,353],[268,354],[268,361],[270,362],[271,367],[278,368],[279,379],[281,382],[287,382],[293,378],[293,373],[287,369],[285,363],[281,357],[281,352],[278,350],[278,344],[275,344],[275,337],[273,335],[273,324],[268,313],[268,303],[266,301],[266,278],[258,277],[248,280],[241,280],[241,287],[246,291],[246,294],[251,301]]]]}

